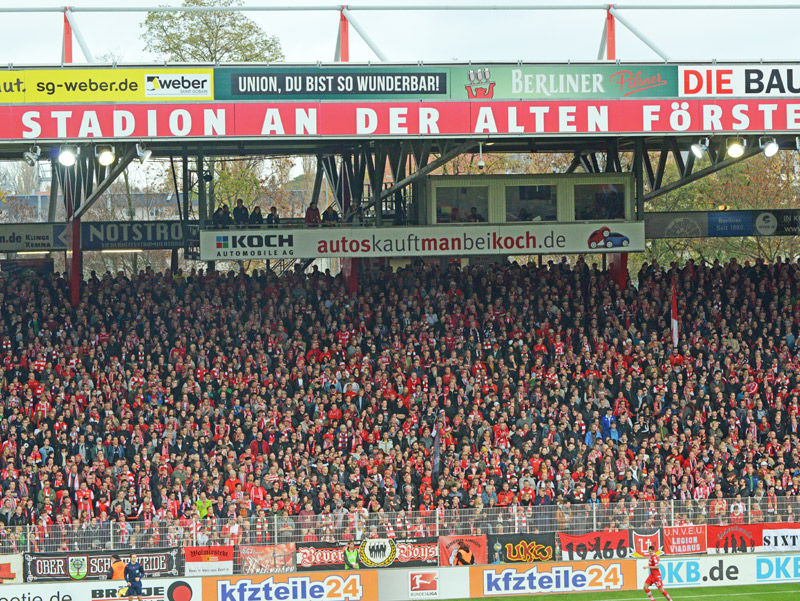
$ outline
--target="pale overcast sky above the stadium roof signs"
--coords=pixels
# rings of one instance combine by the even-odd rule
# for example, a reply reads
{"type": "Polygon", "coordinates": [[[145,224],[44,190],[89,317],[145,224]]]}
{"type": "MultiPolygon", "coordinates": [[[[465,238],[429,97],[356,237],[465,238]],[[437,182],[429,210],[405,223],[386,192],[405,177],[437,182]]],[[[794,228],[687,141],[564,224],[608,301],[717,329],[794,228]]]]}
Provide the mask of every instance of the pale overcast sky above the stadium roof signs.
{"type": "MultiPolygon", "coordinates": [[[[638,5],[680,4],[669,0],[633,1],[638,5]]],[[[405,4],[402,0],[359,2],[362,5],[383,6],[405,4]]],[[[357,10],[359,2],[353,4],[356,18],[391,61],[594,60],[605,18],[605,12],[598,8],[580,11],[377,12],[357,10]]],[[[452,0],[433,2],[456,4],[452,0]]],[[[501,2],[536,4],[519,0],[490,0],[494,4],[501,2]]],[[[0,7],[53,7],[64,3],[64,0],[0,0],[0,7]]],[[[72,0],[70,3],[79,7],[180,4],[176,0],[72,0]]],[[[302,6],[328,5],[328,2],[245,0],[245,4],[302,6]]],[[[465,1],[459,4],[478,3],[465,1]]],[[[549,0],[540,4],[562,2],[549,0]]],[[[732,4],[720,3],[720,6],[732,4]]],[[[748,4],[758,4],[758,0],[748,4]]],[[[331,2],[330,6],[335,6],[335,3],[331,2]]],[[[592,6],[599,7],[601,3],[592,6]]],[[[623,16],[674,60],[764,59],[800,62],[796,42],[800,9],[625,10],[624,2],[620,6],[623,16]]],[[[335,11],[248,15],[267,32],[280,38],[287,61],[333,59],[338,24],[335,11]]],[[[122,56],[125,62],[154,58],[144,52],[139,37],[145,13],[77,13],[76,17],[92,53],[100,55],[111,51],[122,56]]],[[[61,61],[63,19],[60,14],[6,13],[0,15],[0,19],[3,23],[0,64],[53,64],[61,61]]],[[[74,53],[75,62],[84,62],[77,45],[74,53]]],[[[652,50],[621,24],[617,25],[617,56],[625,61],[658,59],[652,50]]],[[[351,60],[377,60],[354,31],[351,32],[351,60]]]]}

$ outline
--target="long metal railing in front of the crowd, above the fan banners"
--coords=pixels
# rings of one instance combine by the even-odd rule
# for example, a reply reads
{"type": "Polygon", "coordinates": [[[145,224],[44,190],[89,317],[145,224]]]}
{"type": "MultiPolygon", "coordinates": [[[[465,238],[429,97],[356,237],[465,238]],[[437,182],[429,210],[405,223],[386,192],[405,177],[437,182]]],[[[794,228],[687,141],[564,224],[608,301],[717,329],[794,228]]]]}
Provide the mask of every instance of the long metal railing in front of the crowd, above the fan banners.
{"type": "MultiPolygon", "coordinates": [[[[246,509],[246,508],[245,508],[246,509]]],[[[446,508],[431,511],[357,512],[237,518],[154,518],[117,522],[0,526],[0,554],[160,549],[209,545],[282,545],[364,538],[422,538],[481,534],[586,534],[606,528],[795,522],[800,497],[551,504],[528,507],[446,508]]],[[[0,519],[7,516],[0,515],[0,519]]],[[[7,521],[7,520],[4,520],[7,521]]],[[[13,522],[12,522],[13,523],[13,522]]]]}

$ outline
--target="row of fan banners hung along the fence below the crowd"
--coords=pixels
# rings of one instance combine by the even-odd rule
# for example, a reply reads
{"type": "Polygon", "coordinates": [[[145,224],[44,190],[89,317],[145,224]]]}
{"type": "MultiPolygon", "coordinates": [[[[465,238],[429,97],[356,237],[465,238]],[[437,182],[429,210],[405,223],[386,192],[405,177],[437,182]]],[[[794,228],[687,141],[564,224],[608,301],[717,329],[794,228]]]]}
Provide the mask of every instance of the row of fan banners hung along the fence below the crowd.
{"type": "MultiPolygon", "coordinates": [[[[228,525],[224,526],[227,528],[228,525]]],[[[16,555],[24,563],[26,580],[107,578],[112,554],[127,560],[137,555],[147,577],[224,574],[281,574],[345,569],[345,551],[361,569],[413,567],[431,569],[458,565],[542,563],[550,561],[619,561],[646,557],[649,549],[672,555],[746,555],[800,551],[800,524],[686,524],[606,528],[581,534],[516,532],[451,534],[416,538],[371,537],[302,542],[251,542],[230,528],[224,544],[140,547],[100,550],[59,550],[16,555]]],[[[7,556],[9,557],[9,556],[7,556]]]]}

